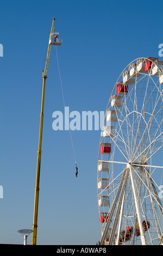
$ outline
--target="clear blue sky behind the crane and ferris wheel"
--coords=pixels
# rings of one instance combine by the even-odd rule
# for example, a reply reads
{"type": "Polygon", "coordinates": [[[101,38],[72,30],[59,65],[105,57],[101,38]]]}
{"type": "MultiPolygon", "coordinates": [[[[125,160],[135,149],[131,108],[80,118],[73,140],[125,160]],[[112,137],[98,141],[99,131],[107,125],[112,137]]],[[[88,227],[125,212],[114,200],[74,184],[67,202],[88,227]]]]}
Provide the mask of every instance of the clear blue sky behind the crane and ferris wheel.
{"type": "MultiPolygon", "coordinates": [[[[1,157],[0,243],[22,243],[32,228],[43,60],[52,19],[65,105],[105,111],[123,69],[139,57],[158,57],[162,1],[55,0],[0,2],[1,157]]],[[[64,112],[55,47],[45,93],[37,244],[95,245],[101,239],[97,157],[101,131],[52,129],[64,112]]],[[[32,237],[32,236],[30,236],[32,237]]],[[[28,243],[30,243],[28,237],[28,243]]]]}

